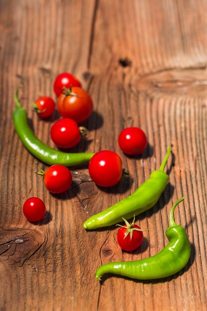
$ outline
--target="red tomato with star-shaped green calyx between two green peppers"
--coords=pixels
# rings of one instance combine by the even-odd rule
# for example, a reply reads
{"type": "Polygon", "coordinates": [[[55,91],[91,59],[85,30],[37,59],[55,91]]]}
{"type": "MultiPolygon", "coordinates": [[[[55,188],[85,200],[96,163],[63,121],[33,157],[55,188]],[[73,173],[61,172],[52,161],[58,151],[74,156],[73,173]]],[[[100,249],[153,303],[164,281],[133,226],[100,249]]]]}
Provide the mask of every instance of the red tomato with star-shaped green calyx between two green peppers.
{"type": "Polygon", "coordinates": [[[143,241],[143,232],[139,226],[135,225],[135,217],[132,224],[129,224],[125,219],[124,221],[124,226],[117,225],[122,227],[117,233],[118,244],[123,250],[136,250],[143,241]]]}

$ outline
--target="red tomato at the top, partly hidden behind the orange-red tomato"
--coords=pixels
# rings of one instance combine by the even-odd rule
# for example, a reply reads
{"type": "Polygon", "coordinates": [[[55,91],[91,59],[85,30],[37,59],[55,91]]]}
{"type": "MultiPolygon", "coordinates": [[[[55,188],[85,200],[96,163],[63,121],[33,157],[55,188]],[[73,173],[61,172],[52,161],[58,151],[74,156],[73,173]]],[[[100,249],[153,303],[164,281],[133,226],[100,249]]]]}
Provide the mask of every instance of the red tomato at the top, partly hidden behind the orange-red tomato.
{"type": "Polygon", "coordinates": [[[53,88],[57,96],[60,96],[64,86],[66,88],[69,88],[70,86],[81,87],[81,83],[73,75],[69,73],[62,73],[56,77],[53,84],[53,88]]]}

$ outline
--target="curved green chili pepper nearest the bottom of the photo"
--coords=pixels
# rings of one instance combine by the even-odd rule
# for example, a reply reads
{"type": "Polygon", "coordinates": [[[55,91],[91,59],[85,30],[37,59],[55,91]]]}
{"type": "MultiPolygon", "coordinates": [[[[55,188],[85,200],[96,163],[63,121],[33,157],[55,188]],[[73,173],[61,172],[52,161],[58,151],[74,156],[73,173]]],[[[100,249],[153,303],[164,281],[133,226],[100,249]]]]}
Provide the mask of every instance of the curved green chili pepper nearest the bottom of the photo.
{"type": "Polygon", "coordinates": [[[159,253],[141,260],[104,264],[97,269],[95,277],[100,280],[104,273],[114,273],[152,280],[168,277],[183,269],[190,258],[191,246],[185,229],[174,221],[175,207],[183,200],[178,200],[171,209],[170,226],[165,233],[169,243],[159,253]]]}

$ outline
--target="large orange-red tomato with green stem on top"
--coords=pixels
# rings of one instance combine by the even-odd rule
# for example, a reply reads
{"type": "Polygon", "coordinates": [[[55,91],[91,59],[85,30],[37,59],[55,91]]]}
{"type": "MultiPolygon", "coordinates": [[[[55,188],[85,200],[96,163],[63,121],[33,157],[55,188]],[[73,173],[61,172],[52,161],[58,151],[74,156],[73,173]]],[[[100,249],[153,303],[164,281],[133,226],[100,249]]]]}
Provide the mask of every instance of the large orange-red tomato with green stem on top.
{"type": "Polygon", "coordinates": [[[82,123],[93,111],[93,102],[90,95],[80,87],[71,87],[59,96],[58,110],[63,117],[68,117],[82,123]]]}

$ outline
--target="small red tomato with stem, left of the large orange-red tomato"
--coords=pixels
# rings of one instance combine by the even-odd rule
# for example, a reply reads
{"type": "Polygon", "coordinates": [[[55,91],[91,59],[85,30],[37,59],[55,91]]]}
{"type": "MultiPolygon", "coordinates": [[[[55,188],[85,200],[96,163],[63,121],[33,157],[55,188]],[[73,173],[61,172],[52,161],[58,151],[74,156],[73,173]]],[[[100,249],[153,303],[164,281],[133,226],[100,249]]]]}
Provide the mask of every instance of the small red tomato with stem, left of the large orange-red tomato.
{"type": "Polygon", "coordinates": [[[48,96],[42,96],[35,100],[34,106],[37,114],[41,118],[50,117],[55,111],[55,101],[53,98],[48,96]]]}

